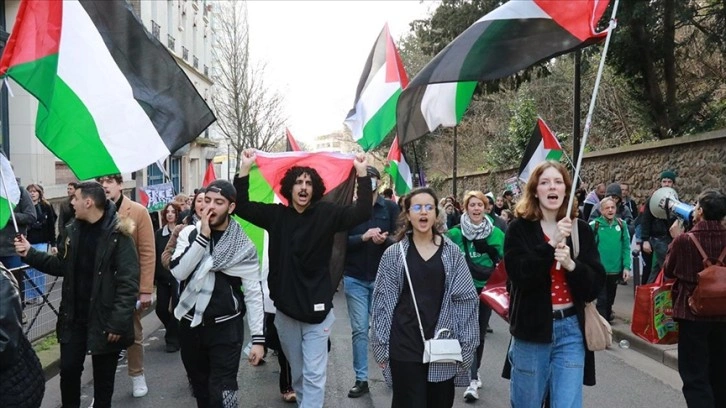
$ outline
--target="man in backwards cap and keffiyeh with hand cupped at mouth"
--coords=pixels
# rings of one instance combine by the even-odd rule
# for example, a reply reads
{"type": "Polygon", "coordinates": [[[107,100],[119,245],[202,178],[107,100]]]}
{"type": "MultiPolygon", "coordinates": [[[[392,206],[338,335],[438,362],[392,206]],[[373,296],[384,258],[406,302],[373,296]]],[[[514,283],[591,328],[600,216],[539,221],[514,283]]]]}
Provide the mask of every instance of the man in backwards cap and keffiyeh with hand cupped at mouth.
{"type": "Polygon", "coordinates": [[[169,264],[182,282],[174,316],[179,319],[182,362],[200,407],[239,406],[237,369],[245,314],[253,344],[250,364],[258,365],[264,354],[257,249],[230,217],[236,197],[227,180],[209,184],[202,219],[179,233],[169,264]]]}

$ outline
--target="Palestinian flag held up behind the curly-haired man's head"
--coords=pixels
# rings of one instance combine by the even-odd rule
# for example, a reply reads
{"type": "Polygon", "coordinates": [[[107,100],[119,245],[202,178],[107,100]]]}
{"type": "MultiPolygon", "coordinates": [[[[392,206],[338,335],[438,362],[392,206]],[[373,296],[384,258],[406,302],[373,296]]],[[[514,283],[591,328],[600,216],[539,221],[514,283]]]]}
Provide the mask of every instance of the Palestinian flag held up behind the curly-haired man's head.
{"type": "MultiPolygon", "coordinates": [[[[356,173],[353,169],[354,155],[330,152],[256,152],[256,164],[250,170],[250,201],[260,203],[283,203],[288,205],[280,194],[280,182],[285,172],[293,166],[314,168],[325,184],[323,200],[340,205],[353,202],[356,173]]],[[[267,232],[243,219],[236,218],[247,236],[257,247],[257,255],[262,260],[263,269],[267,267],[267,232]]],[[[347,232],[335,235],[333,253],[330,259],[330,275],[334,288],[338,287],[343,276],[345,251],[348,242],[347,232]]]]}

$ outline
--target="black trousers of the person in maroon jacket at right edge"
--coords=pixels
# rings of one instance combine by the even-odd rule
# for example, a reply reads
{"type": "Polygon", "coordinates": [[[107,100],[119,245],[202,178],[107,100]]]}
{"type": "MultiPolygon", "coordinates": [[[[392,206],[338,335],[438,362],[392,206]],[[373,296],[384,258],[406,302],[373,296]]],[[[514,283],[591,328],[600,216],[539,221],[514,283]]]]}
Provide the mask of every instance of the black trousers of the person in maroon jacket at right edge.
{"type": "Polygon", "coordinates": [[[678,320],[678,373],[689,408],[726,407],[726,322],[678,320]]]}

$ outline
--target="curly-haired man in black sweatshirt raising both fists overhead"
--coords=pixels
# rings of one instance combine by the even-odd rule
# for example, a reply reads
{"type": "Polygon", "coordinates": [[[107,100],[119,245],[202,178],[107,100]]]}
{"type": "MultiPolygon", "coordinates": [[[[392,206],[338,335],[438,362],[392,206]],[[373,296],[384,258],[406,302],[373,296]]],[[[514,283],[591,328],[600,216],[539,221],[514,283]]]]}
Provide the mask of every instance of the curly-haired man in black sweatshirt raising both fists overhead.
{"type": "Polygon", "coordinates": [[[358,175],[358,201],[350,206],[320,201],[325,193],[322,178],[315,169],[299,166],[291,167],[282,178],[280,193],[289,205],[250,202],[249,172],[255,160],[254,150],[243,152],[239,177],[235,179],[235,214],[269,234],[267,281],[277,308],[275,327],[290,362],[298,406],[322,407],[327,344],[335,320],[328,263],[333,235],[371,216],[371,180],[365,155],[359,154],[353,161],[358,175]]]}

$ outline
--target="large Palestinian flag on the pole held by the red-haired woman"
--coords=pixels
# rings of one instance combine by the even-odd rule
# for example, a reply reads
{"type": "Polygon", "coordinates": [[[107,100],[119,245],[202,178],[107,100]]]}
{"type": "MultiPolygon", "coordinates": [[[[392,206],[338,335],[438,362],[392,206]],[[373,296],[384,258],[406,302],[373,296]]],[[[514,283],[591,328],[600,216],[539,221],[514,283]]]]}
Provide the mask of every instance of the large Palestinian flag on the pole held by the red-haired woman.
{"type": "MultiPolygon", "coordinates": [[[[595,25],[608,0],[511,0],[480,18],[438,53],[399,98],[396,116],[401,144],[430,132],[435,115],[426,105],[431,84],[490,81],[605,38],[595,25]]],[[[438,92],[441,94],[440,92],[438,92]]],[[[457,106],[457,102],[438,102],[457,106]]],[[[468,101],[466,102],[468,104],[468,101]]],[[[457,106],[457,110],[461,109],[457,106]]],[[[465,109],[465,107],[464,107],[465,109]]],[[[443,124],[443,123],[442,123],[443,124]]],[[[434,127],[435,128],[435,127],[434,127]]]]}

